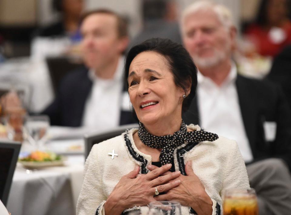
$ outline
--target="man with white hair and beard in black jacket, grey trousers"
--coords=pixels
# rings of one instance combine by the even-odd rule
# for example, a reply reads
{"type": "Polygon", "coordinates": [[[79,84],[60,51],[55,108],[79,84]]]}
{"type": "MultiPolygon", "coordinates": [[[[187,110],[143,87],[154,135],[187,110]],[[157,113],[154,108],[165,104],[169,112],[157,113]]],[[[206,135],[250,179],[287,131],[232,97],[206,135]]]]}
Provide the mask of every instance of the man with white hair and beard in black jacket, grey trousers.
{"type": "Polygon", "coordinates": [[[232,61],[236,28],[223,5],[193,3],[183,11],[181,29],[199,69],[197,97],[184,121],[236,140],[257,192],[259,213],[289,214],[291,120],[281,89],[237,74],[232,61]]]}

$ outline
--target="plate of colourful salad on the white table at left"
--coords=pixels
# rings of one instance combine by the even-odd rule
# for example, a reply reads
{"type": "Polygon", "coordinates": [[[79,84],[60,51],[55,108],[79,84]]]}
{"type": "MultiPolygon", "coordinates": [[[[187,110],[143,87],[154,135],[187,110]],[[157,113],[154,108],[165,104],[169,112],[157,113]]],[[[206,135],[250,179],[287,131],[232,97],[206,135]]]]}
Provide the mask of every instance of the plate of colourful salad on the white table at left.
{"type": "Polygon", "coordinates": [[[64,157],[51,151],[32,151],[18,159],[26,168],[42,168],[64,165],[64,157]]]}

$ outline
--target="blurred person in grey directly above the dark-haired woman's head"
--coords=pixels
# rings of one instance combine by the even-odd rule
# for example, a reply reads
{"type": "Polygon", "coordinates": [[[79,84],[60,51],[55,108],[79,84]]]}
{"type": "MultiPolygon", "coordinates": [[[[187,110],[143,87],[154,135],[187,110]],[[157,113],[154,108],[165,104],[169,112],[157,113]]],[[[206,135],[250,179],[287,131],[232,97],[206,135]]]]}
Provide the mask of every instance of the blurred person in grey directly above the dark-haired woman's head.
{"type": "Polygon", "coordinates": [[[143,28],[129,44],[128,49],[147,39],[169,38],[181,44],[175,0],[142,0],[143,28]]]}

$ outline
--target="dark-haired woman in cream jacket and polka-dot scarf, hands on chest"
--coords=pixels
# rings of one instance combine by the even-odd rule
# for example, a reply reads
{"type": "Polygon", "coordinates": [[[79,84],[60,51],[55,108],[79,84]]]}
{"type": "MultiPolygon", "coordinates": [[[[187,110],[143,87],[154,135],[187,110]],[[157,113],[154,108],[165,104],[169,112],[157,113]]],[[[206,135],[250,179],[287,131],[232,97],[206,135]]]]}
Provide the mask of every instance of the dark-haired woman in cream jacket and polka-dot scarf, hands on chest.
{"type": "Polygon", "coordinates": [[[168,39],[132,47],[125,78],[139,129],[94,145],[78,214],[146,211],[156,200],[180,202],[182,214],[221,214],[226,189],[249,187],[235,141],[182,121],[195,96],[196,72],[187,51],[168,39]]]}

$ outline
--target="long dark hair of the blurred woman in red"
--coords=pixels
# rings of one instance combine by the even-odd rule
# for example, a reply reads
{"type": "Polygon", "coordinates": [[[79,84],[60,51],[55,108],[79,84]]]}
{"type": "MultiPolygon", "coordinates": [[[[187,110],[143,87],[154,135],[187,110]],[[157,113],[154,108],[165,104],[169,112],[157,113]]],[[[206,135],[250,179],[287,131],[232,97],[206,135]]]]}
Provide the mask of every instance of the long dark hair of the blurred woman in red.
{"type": "MultiPolygon", "coordinates": [[[[268,20],[267,20],[267,9],[268,9],[268,4],[269,4],[270,0],[262,0],[259,6],[259,10],[258,10],[258,14],[256,16],[256,24],[260,25],[260,26],[265,26],[266,24],[268,24],[268,20]]],[[[287,17],[290,19],[291,18],[291,14],[290,14],[290,9],[291,9],[291,1],[290,0],[286,0],[286,6],[287,6],[287,17]]]]}

